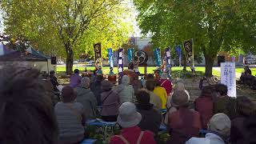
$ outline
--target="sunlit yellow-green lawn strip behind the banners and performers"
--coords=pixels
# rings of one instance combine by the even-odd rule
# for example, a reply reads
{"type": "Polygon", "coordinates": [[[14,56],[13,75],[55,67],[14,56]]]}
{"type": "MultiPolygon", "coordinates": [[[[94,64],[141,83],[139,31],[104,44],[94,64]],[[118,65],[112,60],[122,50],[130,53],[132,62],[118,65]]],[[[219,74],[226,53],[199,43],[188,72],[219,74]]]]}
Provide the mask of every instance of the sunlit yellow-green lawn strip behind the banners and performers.
{"type": "MultiPolygon", "coordinates": [[[[78,69],[78,70],[85,70],[84,67],[82,66],[73,66],[73,70],[74,69],[78,69]]],[[[124,70],[126,70],[127,67],[124,67],[124,70]]],[[[88,66],[87,67],[87,70],[94,70],[94,66],[88,66]]],[[[102,67],[102,70],[103,70],[103,74],[108,74],[109,71],[110,71],[110,67],[109,66],[103,66],[102,67]]],[[[148,66],[147,67],[147,74],[153,74],[155,70],[155,67],[154,66],[148,66]]],[[[183,67],[172,67],[171,68],[172,70],[172,75],[173,77],[179,77],[179,75],[181,74],[181,71],[183,70],[183,67]]],[[[190,73],[191,70],[189,67],[186,68],[187,70],[187,73],[190,73]]],[[[205,67],[195,67],[195,70],[196,70],[196,74],[199,74],[199,75],[202,75],[205,73],[205,67]]],[[[61,72],[65,72],[66,71],[66,66],[57,66],[57,72],[58,73],[61,73],[61,72]]],[[[139,71],[144,74],[144,67],[139,67],[139,71]]],[[[118,73],[118,67],[114,67],[114,73],[117,74],[118,73]]],[[[183,72],[182,72],[183,73],[183,72]]],[[[213,70],[213,75],[215,76],[220,76],[220,73],[217,71],[217,70],[213,70]]]]}

